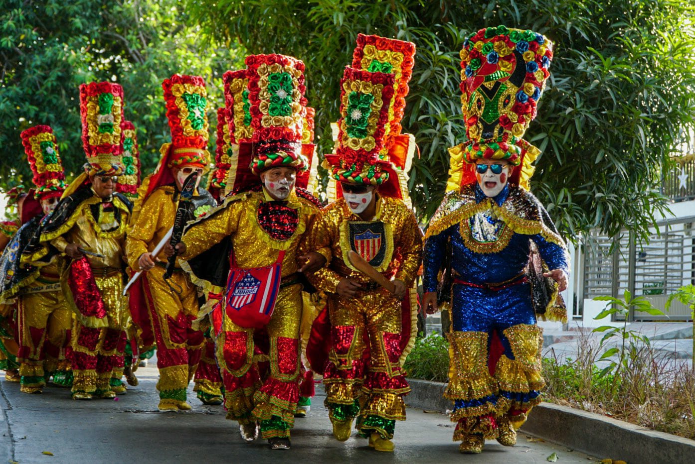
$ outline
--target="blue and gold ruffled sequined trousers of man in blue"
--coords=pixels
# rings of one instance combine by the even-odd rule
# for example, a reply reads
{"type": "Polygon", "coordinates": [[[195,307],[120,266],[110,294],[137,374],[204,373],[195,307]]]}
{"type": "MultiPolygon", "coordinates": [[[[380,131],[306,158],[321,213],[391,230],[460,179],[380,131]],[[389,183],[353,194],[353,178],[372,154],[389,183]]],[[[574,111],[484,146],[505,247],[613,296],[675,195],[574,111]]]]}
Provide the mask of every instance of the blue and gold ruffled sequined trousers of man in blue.
{"type": "Polygon", "coordinates": [[[532,406],[541,402],[545,386],[542,329],[536,325],[530,286],[491,291],[456,284],[452,297],[444,396],[454,401],[454,440],[470,433],[497,438],[505,423],[521,427],[532,406]],[[499,358],[491,359],[491,354],[499,358]]]}

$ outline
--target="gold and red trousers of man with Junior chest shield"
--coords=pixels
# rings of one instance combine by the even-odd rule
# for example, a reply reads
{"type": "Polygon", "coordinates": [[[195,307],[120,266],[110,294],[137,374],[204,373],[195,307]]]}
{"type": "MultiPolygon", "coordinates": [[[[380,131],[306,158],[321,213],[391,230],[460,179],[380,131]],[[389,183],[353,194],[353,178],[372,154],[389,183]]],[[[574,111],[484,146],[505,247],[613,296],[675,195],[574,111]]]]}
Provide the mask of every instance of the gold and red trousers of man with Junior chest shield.
{"type": "Polygon", "coordinates": [[[357,416],[363,436],[376,431],[393,438],[395,421],[405,420],[402,397],[410,391],[398,362],[401,302],[377,289],[357,298],[331,295],[328,309],[332,350],[323,382],[329,417],[357,416]]]}

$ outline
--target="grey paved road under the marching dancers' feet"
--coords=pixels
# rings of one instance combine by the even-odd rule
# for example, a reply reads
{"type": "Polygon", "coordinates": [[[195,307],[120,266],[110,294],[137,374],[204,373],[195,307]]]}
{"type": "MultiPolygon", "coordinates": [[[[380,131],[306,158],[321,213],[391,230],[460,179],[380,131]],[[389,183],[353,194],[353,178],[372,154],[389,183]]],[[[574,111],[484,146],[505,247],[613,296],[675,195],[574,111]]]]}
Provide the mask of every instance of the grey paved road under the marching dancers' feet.
{"type": "Polygon", "coordinates": [[[596,462],[584,454],[520,435],[515,447],[488,442],[483,454],[464,456],[451,441],[453,424],[445,415],[408,409],[396,425],[394,454],[378,453],[352,436],[331,435],[320,386],[307,418],[297,419],[292,449],[271,451],[259,440],[241,440],[236,423],[224,419],[222,406],[202,406],[189,390],[193,411],[160,413],[154,388],[157,370],[138,370],[140,385],[113,399],[77,402],[70,391],[49,387],[42,395],[19,393],[18,384],[0,381],[3,414],[0,463],[558,463],[596,462]],[[43,454],[50,452],[53,456],[43,454]]]}

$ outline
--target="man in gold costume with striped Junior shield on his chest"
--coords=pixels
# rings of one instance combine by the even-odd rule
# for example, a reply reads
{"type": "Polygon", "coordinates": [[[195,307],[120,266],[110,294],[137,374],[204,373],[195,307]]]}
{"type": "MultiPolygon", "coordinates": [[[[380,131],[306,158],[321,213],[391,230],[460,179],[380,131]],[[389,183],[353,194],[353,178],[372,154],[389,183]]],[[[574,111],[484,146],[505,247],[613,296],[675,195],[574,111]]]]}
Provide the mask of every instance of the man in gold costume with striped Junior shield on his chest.
{"type": "Polygon", "coordinates": [[[328,293],[332,349],[323,381],[334,436],[347,440],[357,418],[360,435],[382,452],[393,452],[395,421],[405,420],[402,396],[410,388],[400,356],[412,332],[403,323],[414,316],[406,297],[422,253],[392,157],[397,151],[404,161],[414,149],[400,134],[414,53],[409,42],[359,36],[354,67],[341,80],[336,154],[326,156],[343,198],[325,208],[309,239],[312,250],[330,255],[329,266],[308,277],[328,293]],[[350,252],[391,291],[358,270],[350,252]]]}

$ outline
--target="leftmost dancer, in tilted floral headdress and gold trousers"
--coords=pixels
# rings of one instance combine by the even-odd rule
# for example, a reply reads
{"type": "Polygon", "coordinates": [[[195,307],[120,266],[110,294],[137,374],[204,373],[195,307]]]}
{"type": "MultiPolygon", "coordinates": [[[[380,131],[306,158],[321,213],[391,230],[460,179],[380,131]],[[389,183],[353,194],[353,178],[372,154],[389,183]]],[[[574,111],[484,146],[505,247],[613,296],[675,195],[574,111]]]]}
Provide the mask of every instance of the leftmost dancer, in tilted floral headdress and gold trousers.
{"type": "Polygon", "coordinates": [[[33,254],[33,237],[42,218],[58,204],[65,189],[65,174],[56,137],[49,126],[28,128],[21,136],[36,190],[30,191],[33,198],[24,198],[24,225],[3,252],[0,301],[16,298],[17,302],[20,389],[24,393],[41,393],[51,375],[57,377],[58,384],[67,381],[70,367],[66,348],[70,343],[72,313],[60,289],[63,260],[55,250],[35,255],[45,259],[41,266],[24,266],[22,258],[26,252],[33,254]]]}

